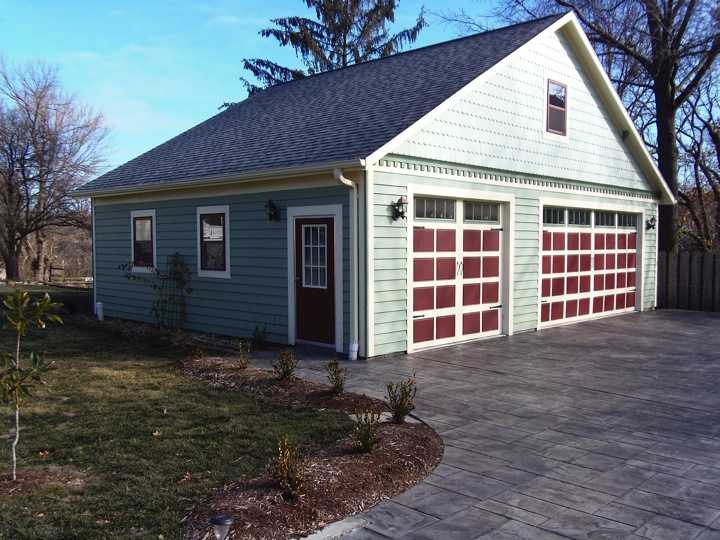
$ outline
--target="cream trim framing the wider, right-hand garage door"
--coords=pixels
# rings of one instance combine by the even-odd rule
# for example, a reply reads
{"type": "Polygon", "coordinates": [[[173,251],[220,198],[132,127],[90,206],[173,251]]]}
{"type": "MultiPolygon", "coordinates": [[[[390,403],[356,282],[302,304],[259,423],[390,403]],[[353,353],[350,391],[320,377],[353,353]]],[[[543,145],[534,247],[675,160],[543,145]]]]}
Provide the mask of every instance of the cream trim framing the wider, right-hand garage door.
{"type": "Polygon", "coordinates": [[[563,207],[563,208],[579,208],[584,210],[600,210],[609,212],[625,212],[638,215],[637,225],[637,282],[635,287],[636,295],[636,306],[639,311],[643,310],[644,306],[644,291],[645,291],[645,219],[646,219],[646,208],[644,206],[635,204],[620,204],[620,203],[607,203],[604,201],[597,201],[593,199],[578,200],[573,198],[560,198],[560,197],[540,197],[540,209],[538,215],[538,280],[537,280],[537,323],[536,328],[538,331],[541,328],[548,328],[550,326],[564,326],[568,324],[577,324],[590,319],[599,319],[604,317],[613,317],[623,315],[627,312],[612,312],[612,313],[601,313],[597,315],[585,316],[583,318],[572,319],[572,320],[561,320],[558,322],[541,323],[541,290],[542,290],[542,234],[543,234],[543,214],[546,206],[552,207],[563,207]]]}

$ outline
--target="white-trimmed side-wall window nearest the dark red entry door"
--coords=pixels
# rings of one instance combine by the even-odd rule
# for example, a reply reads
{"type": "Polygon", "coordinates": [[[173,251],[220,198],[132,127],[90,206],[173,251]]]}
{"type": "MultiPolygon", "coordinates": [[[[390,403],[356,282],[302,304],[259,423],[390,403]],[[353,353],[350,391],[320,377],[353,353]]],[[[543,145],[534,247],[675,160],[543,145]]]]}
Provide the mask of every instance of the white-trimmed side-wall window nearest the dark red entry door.
{"type": "Polygon", "coordinates": [[[230,207],[197,209],[198,276],[230,277],[230,207]]]}

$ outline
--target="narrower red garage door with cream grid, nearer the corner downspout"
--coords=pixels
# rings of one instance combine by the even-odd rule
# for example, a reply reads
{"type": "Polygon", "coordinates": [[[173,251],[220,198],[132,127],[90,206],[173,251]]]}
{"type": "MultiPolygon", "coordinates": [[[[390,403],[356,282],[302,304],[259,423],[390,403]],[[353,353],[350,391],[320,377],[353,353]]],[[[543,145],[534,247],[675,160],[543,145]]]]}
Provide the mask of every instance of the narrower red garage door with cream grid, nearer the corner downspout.
{"type": "Polygon", "coordinates": [[[415,207],[414,346],[498,335],[502,310],[499,205],[419,197],[415,207]]]}

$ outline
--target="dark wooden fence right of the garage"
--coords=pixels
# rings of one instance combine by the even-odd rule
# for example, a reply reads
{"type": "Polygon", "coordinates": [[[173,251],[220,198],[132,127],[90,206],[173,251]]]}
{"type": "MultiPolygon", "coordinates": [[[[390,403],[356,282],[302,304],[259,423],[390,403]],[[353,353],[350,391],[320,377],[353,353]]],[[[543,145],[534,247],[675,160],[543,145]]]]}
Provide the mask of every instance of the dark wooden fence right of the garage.
{"type": "Polygon", "coordinates": [[[720,253],[658,253],[658,307],[720,311],[720,253]]]}

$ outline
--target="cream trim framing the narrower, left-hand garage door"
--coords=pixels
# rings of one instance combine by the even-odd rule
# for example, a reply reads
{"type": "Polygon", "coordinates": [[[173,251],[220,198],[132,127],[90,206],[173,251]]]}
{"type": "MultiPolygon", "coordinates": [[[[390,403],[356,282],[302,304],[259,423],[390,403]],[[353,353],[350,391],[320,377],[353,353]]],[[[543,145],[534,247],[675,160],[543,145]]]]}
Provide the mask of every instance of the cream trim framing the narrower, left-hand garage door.
{"type": "MultiPolygon", "coordinates": [[[[501,246],[501,273],[500,283],[502,288],[502,321],[500,324],[500,333],[504,335],[512,335],[513,328],[513,283],[512,283],[512,268],[514,258],[514,242],[513,237],[515,234],[515,196],[511,194],[501,194],[490,191],[470,190],[470,189],[453,189],[443,188],[435,186],[425,186],[422,184],[410,184],[407,186],[407,212],[406,212],[406,241],[407,241],[407,261],[406,261],[406,309],[407,309],[407,352],[414,352],[418,349],[428,349],[435,347],[446,346],[447,344],[436,344],[430,346],[417,346],[413,343],[413,306],[412,306],[412,288],[413,288],[413,229],[415,226],[415,197],[441,197],[446,199],[458,199],[458,200],[476,200],[476,201],[488,201],[497,202],[503,205],[503,234],[502,246],[501,246]]],[[[458,338],[452,342],[452,344],[463,342],[463,341],[475,341],[477,339],[487,339],[486,337],[461,339],[458,338]]]]}

